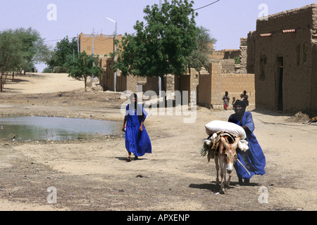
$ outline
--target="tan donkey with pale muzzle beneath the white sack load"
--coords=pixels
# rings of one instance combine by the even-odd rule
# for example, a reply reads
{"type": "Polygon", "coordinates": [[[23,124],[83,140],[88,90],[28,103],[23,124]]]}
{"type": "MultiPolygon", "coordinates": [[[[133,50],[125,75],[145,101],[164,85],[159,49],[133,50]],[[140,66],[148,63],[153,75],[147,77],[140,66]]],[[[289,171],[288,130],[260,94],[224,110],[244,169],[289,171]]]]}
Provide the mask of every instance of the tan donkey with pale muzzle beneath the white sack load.
{"type": "Polygon", "coordinates": [[[219,167],[220,167],[220,193],[223,192],[223,188],[229,187],[233,165],[237,159],[237,146],[241,137],[238,136],[235,140],[230,139],[229,136],[220,136],[220,143],[218,149],[216,149],[214,160],[216,163],[216,185],[219,185],[219,167]],[[233,142],[233,143],[232,143],[233,142]],[[225,180],[225,174],[228,173],[228,181],[225,180]]]}

